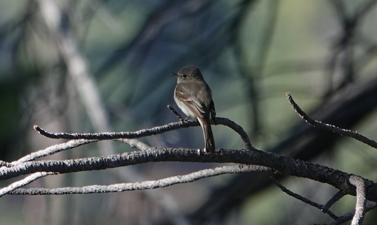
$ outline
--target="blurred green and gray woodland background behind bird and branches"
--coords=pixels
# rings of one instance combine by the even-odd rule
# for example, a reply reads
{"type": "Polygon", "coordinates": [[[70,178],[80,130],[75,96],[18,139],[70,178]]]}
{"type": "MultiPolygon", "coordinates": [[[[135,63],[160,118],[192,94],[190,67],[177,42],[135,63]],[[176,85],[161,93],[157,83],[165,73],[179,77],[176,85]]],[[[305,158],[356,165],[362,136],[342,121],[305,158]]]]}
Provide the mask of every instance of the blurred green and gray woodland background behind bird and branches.
{"type": "MultiPolygon", "coordinates": [[[[253,145],[375,181],[375,149],[311,129],[314,119],[376,140],[375,0],[13,0],[0,1],[0,159],[16,160],[59,140],[50,132],[137,131],[177,118],[176,73],[201,68],[217,116],[241,125],[253,145]]],[[[179,111],[180,112],[180,111],[179,111]]],[[[216,147],[242,148],[215,126],[216,147]]],[[[142,138],[156,147],[202,148],[201,128],[142,138]]],[[[133,151],[104,141],[62,160],[133,151]]],[[[218,166],[147,163],[42,178],[30,187],[159,179],[218,166]]],[[[66,196],[5,196],[1,224],[309,224],[329,216],[270,185],[269,174],[222,175],[156,190],[66,196]]],[[[277,177],[280,178],[280,177],[277,177]]],[[[320,204],[337,190],[280,178],[320,204]]],[[[2,182],[2,185],[8,183],[2,182]]],[[[331,208],[354,208],[346,196],[331,208]]],[[[366,214],[372,224],[376,213],[366,214]]]]}

